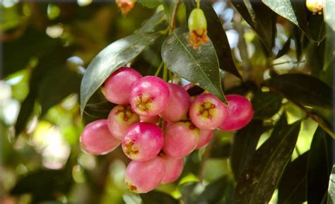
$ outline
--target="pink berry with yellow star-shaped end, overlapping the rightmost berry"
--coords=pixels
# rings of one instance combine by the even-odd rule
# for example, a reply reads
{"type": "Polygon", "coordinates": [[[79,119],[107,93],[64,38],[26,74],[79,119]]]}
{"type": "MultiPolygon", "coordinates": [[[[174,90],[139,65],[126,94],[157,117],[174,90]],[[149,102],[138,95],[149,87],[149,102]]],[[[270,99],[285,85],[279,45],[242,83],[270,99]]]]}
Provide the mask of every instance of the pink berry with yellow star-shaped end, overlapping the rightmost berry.
{"type": "Polygon", "coordinates": [[[227,111],[225,104],[210,93],[196,97],[189,108],[192,123],[201,129],[213,130],[222,124],[227,111]]]}

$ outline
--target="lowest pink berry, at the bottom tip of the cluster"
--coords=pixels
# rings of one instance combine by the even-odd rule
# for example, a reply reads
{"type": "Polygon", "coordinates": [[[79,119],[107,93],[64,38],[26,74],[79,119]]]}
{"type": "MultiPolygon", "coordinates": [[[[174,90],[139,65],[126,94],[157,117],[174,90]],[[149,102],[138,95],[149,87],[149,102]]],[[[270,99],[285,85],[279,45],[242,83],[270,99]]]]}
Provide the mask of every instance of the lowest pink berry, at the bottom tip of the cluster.
{"type": "Polygon", "coordinates": [[[146,162],[131,161],[126,169],[124,179],[130,191],[147,193],[157,187],[165,174],[162,158],[154,157],[146,162]]]}

